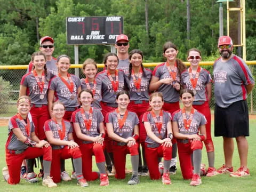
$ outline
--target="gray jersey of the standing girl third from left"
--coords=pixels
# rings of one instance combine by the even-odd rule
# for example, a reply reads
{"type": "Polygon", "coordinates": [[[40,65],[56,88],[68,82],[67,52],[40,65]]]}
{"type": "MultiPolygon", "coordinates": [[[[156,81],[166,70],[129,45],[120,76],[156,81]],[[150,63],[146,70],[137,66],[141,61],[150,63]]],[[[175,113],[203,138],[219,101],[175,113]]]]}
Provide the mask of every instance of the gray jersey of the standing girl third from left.
{"type": "MultiPolygon", "coordinates": [[[[101,106],[100,106],[100,101],[101,101],[101,87],[100,87],[100,82],[96,82],[96,90],[95,90],[95,94],[93,95],[93,102],[92,102],[92,107],[96,107],[98,109],[101,109],[101,106]]],[[[90,85],[90,90],[93,90],[93,86],[94,84],[92,82],[89,82],[89,85],[90,85]]],[[[81,90],[86,90],[88,89],[87,88],[87,85],[85,83],[85,79],[81,79],[81,90]]]]}

